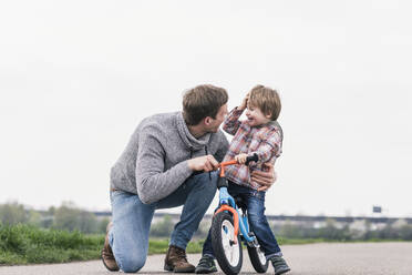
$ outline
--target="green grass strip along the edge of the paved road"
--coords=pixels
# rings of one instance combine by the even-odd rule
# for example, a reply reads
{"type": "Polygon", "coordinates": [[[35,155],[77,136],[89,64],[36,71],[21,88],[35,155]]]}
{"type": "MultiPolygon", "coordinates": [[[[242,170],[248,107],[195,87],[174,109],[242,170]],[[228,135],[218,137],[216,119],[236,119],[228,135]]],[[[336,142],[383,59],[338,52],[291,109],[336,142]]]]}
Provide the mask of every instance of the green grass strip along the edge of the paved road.
{"type": "MultiPolygon", "coordinates": [[[[332,242],[322,238],[278,238],[280,245],[332,242]]],[[[337,242],[337,241],[334,241],[337,242]]],[[[365,241],[362,241],[365,242],[365,241]]],[[[367,242],[382,242],[373,240],[367,242]]],[[[392,241],[393,242],[393,241],[392,241]]],[[[200,253],[204,241],[190,242],[187,253],[200,253]]],[[[80,232],[42,230],[30,225],[0,224],[0,265],[68,263],[99,259],[104,235],[84,235],[80,232]]],[[[148,254],[164,254],[168,240],[151,240],[148,254]]]]}

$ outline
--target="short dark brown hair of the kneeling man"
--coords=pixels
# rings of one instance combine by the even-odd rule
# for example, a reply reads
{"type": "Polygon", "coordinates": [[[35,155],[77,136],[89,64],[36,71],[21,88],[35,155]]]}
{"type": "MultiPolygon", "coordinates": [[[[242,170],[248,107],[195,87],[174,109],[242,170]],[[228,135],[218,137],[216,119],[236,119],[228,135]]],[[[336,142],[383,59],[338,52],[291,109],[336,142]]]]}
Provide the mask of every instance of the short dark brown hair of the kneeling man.
{"type": "Polygon", "coordinates": [[[216,119],[227,100],[227,92],[223,88],[209,84],[195,86],[183,95],[183,118],[187,125],[197,125],[206,116],[216,119]]]}

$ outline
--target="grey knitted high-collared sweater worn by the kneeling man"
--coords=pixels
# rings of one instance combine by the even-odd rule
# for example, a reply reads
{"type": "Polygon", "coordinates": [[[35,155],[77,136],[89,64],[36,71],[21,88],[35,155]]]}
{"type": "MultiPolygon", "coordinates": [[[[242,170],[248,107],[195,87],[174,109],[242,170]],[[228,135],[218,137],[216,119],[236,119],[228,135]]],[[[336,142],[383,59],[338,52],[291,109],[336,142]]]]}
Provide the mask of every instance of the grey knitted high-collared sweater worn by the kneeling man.
{"type": "Polygon", "coordinates": [[[111,187],[138,194],[143,203],[157,202],[181,186],[193,171],[187,160],[206,152],[220,162],[228,149],[224,133],[195,139],[182,112],[144,119],[111,170],[111,187]]]}

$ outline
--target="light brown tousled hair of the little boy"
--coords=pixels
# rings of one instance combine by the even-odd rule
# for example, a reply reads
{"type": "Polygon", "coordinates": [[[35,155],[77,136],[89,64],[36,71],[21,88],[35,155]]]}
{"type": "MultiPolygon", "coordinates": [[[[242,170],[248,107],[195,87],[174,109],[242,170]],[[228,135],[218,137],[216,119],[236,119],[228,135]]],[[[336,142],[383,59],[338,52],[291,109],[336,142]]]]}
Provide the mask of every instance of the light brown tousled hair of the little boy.
{"type": "Polygon", "coordinates": [[[250,91],[248,103],[251,106],[259,108],[265,115],[270,114],[270,120],[272,121],[279,118],[281,110],[280,98],[278,92],[271,88],[256,85],[250,91]]]}

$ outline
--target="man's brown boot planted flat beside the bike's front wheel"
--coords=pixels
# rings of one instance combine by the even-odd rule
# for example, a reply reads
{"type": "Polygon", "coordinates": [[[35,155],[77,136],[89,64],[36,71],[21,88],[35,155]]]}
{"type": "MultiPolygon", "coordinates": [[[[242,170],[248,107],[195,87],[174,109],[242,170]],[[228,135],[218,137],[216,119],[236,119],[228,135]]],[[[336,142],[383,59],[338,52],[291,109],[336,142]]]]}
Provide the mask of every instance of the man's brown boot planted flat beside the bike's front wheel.
{"type": "Polygon", "coordinates": [[[165,258],[165,271],[175,273],[194,273],[195,266],[187,262],[186,252],[171,245],[165,258]]]}

